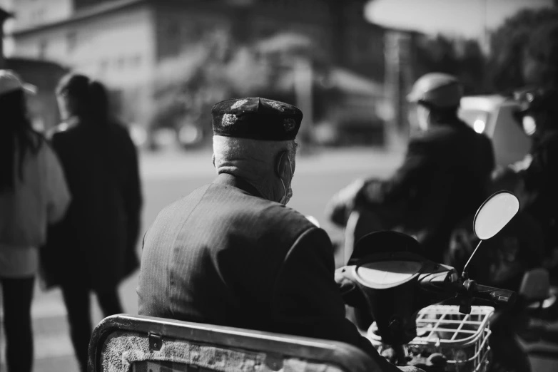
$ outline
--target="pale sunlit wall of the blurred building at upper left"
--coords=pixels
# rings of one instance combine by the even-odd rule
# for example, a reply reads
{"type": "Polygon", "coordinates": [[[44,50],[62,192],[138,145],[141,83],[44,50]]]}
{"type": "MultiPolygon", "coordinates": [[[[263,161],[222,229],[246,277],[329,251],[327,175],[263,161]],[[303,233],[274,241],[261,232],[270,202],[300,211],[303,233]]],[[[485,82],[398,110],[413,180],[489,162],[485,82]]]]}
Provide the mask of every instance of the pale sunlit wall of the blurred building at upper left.
{"type": "Polygon", "coordinates": [[[154,63],[151,12],[142,1],[82,3],[16,1],[14,56],[54,61],[99,78],[117,96],[133,99],[136,108],[126,115],[128,120],[143,117],[149,111],[148,82],[154,63]],[[58,10],[49,13],[49,9],[58,10]],[[37,12],[44,18],[32,21],[31,14],[37,12]]]}

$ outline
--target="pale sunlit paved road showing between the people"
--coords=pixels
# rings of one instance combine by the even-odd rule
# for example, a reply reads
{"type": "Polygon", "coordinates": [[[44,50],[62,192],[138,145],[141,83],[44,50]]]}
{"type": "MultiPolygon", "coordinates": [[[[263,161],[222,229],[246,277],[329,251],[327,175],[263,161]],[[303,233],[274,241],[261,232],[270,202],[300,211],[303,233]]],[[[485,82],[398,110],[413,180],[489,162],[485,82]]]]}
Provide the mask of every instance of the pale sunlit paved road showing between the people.
{"type": "MultiPolygon", "coordinates": [[[[332,239],[340,238],[340,230],[325,221],[323,209],[330,197],[348,182],[361,175],[388,175],[400,162],[400,152],[372,150],[330,150],[298,160],[293,180],[294,196],[290,206],[305,215],[318,218],[332,239]]],[[[146,205],[143,229],[153,222],[159,210],[215,177],[211,156],[207,151],[142,155],[142,177],[146,205]]],[[[138,254],[140,254],[138,247],[138,254]]],[[[340,257],[337,257],[340,264],[340,257]]],[[[120,288],[123,306],[128,314],[137,314],[137,274],[120,288]]],[[[92,296],[93,298],[93,296],[92,296]]],[[[95,324],[101,312],[93,299],[95,324]]],[[[77,371],[77,363],[68,336],[66,311],[59,291],[42,292],[38,287],[33,305],[35,332],[35,372],[77,371]]],[[[0,335],[0,360],[4,361],[4,340],[0,335]]],[[[547,361],[534,361],[535,371],[553,371],[547,361]]],[[[557,368],[558,369],[558,368],[557,368]]],[[[6,366],[0,363],[0,372],[6,366]]]]}

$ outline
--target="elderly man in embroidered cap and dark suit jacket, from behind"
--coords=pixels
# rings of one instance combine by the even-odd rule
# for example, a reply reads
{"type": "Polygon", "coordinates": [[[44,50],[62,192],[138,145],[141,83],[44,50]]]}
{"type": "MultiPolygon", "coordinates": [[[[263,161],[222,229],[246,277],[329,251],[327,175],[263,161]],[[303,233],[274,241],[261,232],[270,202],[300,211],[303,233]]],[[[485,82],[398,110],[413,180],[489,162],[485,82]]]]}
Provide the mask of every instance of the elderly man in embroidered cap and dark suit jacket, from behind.
{"type": "Polygon", "coordinates": [[[264,98],[212,113],[218,177],[146,233],[139,314],[343,341],[397,371],[345,319],[328,234],[285,207],[303,114],[264,98]]]}

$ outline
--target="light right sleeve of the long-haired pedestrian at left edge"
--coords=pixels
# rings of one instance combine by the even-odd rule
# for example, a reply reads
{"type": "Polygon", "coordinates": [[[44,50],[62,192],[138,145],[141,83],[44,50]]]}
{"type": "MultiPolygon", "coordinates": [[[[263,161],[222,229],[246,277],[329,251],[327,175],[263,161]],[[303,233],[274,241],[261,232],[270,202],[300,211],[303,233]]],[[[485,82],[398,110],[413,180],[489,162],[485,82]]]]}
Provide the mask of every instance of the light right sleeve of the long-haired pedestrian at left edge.
{"type": "Polygon", "coordinates": [[[71,195],[59,158],[48,143],[43,146],[46,164],[46,213],[49,224],[54,224],[64,218],[71,195]]]}

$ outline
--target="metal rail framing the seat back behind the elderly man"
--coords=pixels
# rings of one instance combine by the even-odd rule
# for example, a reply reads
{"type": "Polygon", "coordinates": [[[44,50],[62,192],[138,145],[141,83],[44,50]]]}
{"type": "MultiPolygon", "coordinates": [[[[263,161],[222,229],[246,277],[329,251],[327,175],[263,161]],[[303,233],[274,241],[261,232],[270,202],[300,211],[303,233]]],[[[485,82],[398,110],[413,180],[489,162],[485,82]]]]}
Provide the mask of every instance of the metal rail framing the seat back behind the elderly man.
{"type": "Polygon", "coordinates": [[[310,339],[307,337],[272,334],[210,324],[131,316],[108,316],[93,330],[88,350],[88,371],[101,372],[101,353],[108,336],[116,331],[156,335],[183,341],[203,343],[220,348],[270,353],[307,361],[338,366],[343,371],[380,371],[375,361],[364,351],[347,343],[310,339]]]}

